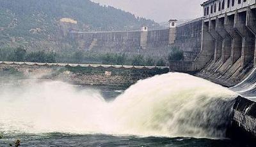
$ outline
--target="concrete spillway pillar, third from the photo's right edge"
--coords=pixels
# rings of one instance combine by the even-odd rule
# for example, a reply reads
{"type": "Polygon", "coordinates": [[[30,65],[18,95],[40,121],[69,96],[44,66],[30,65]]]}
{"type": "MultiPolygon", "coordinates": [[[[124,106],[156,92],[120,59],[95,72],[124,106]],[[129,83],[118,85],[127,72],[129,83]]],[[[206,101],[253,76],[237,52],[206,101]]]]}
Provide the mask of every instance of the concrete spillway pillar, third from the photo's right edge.
{"type": "Polygon", "coordinates": [[[234,23],[235,23],[235,15],[225,16],[224,27],[225,27],[225,30],[228,32],[228,34],[232,38],[232,43],[231,43],[232,46],[230,48],[232,64],[234,64],[241,57],[241,53],[242,53],[242,38],[236,32],[236,29],[234,29],[234,23]]]}

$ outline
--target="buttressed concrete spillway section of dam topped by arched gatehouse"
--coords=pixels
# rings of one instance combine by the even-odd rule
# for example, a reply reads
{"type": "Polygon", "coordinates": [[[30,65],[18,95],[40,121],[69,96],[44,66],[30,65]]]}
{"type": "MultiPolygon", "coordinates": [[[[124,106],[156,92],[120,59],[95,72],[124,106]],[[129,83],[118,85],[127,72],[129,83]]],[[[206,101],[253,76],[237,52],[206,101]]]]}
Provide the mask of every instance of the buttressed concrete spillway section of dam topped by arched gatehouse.
{"type": "MultiPolygon", "coordinates": [[[[232,87],[230,89],[241,96],[234,105],[230,134],[233,137],[255,139],[255,0],[211,0],[205,1],[202,6],[204,17],[202,38],[198,43],[200,52],[195,60],[170,61],[170,71],[193,73],[225,87],[232,87]]],[[[186,32],[189,31],[193,29],[186,32]]],[[[180,44],[182,42],[188,45],[186,48],[194,47],[184,38],[180,44]]]]}

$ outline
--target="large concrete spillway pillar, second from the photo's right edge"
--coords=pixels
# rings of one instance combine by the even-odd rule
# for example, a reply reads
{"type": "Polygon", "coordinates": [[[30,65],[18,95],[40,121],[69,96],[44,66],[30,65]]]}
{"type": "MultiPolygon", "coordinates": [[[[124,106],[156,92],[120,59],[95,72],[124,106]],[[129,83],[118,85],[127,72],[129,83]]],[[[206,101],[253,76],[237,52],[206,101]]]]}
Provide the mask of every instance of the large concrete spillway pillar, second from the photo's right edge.
{"type": "Polygon", "coordinates": [[[246,27],[246,20],[248,19],[247,11],[235,15],[235,29],[242,36],[242,66],[246,66],[254,59],[255,51],[255,35],[246,27]]]}

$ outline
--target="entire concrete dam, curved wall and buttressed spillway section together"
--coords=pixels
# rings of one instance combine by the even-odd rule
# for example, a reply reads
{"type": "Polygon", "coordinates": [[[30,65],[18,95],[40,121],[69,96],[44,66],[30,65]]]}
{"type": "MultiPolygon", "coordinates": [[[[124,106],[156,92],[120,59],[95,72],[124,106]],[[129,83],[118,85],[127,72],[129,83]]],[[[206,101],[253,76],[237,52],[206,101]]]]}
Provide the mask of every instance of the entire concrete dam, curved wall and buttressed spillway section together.
{"type": "Polygon", "coordinates": [[[255,138],[256,1],[209,0],[202,6],[202,18],[181,25],[170,20],[168,29],[148,31],[143,26],[140,31],[71,31],[68,35],[81,50],[92,52],[166,57],[170,48],[180,48],[184,60],[170,61],[170,71],[195,74],[241,94],[232,127],[255,138]]]}

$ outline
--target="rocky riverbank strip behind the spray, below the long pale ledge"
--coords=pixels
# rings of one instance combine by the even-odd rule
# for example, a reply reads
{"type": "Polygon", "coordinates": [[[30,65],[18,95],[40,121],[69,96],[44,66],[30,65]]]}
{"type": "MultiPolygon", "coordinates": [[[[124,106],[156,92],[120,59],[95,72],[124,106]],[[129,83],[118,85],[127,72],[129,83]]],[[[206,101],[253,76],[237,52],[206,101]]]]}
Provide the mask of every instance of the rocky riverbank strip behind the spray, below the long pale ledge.
{"type": "Polygon", "coordinates": [[[19,79],[51,79],[76,85],[115,85],[129,87],[138,80],[168,73],[168,68],[29,66],[1,64],[1,81],[19,79]],[[12,75],[12,76],[10,76],[12,75]],[[12,77],[12,78],[10,78],[12,77]]]}

